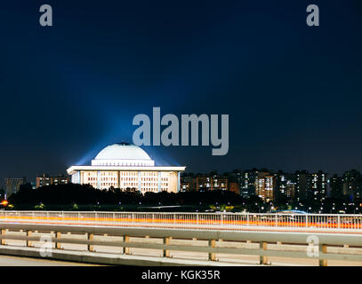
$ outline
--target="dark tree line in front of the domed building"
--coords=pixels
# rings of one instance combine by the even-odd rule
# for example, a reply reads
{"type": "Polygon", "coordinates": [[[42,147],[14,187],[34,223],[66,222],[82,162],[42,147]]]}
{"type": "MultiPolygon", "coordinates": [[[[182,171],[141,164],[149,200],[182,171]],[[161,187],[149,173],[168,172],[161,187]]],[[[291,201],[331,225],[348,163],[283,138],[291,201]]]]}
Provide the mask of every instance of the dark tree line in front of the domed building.
{"type": "MultiPolygon", "coordinates": [[[[180,193],[140,193],[135,188],[121,190],[110,187],[97,189],[92,185],[47,185],[36,189],[31,186],[21,186],[18,193],[9,197],[13,205],[43,203],[52,204],[134,204],[134,205],[200,205],[245,203],[245,199],[237,193],[229,191],[189,191],[180,193]]],[[[261,200],[260,200],[261,201],[261,200]]],[[[258,200],[259,202],[259,200],[258,200]]]]}

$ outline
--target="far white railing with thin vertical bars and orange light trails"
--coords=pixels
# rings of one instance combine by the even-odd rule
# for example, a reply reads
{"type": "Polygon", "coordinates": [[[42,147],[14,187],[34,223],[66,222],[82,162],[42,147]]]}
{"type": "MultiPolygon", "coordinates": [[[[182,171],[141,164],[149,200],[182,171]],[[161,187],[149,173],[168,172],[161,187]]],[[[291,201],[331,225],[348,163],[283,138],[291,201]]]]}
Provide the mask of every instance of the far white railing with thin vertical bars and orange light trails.
{"type": "Polygon", "coordinates": [[[135,225],[168,228],[238,229],[245,227],[362,230],[362,215],[286,213],[158,213],[96,211],[0,211],[0,222],[79,225],[135,225]]]}

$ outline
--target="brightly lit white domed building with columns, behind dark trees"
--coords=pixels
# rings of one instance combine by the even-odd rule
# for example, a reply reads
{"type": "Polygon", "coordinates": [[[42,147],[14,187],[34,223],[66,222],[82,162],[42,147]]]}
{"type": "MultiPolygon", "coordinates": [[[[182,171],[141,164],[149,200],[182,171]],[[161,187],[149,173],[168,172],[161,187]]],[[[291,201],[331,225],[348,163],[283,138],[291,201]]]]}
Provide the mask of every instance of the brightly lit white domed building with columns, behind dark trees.
{"type": "Polygon", "coordinates": [[[72,166],[67,171],[74,184],[89,184],[99,189],[130,188],[141,193],[177,193],[180,191],[180,172],[185,168],[155,166],[141,147],[117,143],[101,150],[91,166],[72,166]]]}

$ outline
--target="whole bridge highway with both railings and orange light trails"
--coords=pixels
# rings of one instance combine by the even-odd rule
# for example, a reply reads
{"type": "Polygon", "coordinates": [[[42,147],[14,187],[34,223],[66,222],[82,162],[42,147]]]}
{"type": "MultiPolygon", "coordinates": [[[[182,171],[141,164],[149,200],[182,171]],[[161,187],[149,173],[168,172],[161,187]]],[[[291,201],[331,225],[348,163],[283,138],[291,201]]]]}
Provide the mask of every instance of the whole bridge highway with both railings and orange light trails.
{"type": "MultiPolygon", "coordinates": [[[[317,234],[320,240],[326,241],[322,244],[327,246],[330,254],[328,265],[362,265],[362,243],[359,238],[362,234],[362,215],[2,211],[0,225],[1,235],[7,239],[4,240],[5,245],[0,245],[0,249],[4,248],[3,251],[6,252],[6,249],[11,247],[27,248],[24,238],[30,238],[28,240],[31,240],[31,245],[28,247],[32,247],[33,255],[27,256],[35,257],[39,256],[39,237],[48,236],[53,240],[52,248],[61,252],[60,254],[73,251],[91,255],[96,253],[99,256],[103,254],[104,257],[113,255],[110,257],[116,258],[149,257],[162,263],[167,250],[169,259],[204,262],[204,265],[208,265],[211,264],[210,260],[215,260],[210,258],[207,250],[211,248],[210,241],[213,239],[212,248],[219,249],[218,253],[214,254],[218,259],[217,264],[258,265],[261,263],[260,257],[263,256],[262,250],[268,249],[268,262],[263,264],[318,265],[318,258],[307,256],[311,243],[306,242],[310,235],[317,234]],[[56,232],[60,233],[59,236],[56,232]],[[87,239],[90,234],[91,239],[87,239]],[[199,237],[196,238],[195,235],[199,237]],[[92,249],[86,244],[87,240],[92,241],[92,249]],[[281,240],[284,240],[283,243],[281,240]],[[107,242],[109,247],[105,244],[107,242]],[[125,242],[129,245],[122,246],[125,242]],[[268,248],[261,247],[263,242],[268,242],[268,248]],[[165,245],[170,248],[165,248],[165,245]],[[129,254],[124,254],[124,247],[127,247],[129,254]],[[260,249],[261,252],[256,252],[260,249]],[[355,261],[352,261],[353,259],[355,261]]],[[[18,251],[11,255],[19,256],[22,253],[18,251]]],[[[6,257],[4,256],[0,265],[76,264],[42,258],[34,262],[28,258],[21,262],[19,257],[6,257]]],[[[82,257],[76,259],[84,262],[82,257]]],[[[143,261],[143,258],[141,260],[143,261]]]]}

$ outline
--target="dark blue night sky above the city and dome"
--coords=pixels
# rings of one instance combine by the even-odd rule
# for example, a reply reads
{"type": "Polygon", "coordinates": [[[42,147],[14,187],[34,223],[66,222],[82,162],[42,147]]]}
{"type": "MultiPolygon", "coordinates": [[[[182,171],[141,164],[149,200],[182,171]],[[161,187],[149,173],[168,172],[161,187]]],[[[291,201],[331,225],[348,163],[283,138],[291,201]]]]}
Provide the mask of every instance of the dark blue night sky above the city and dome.
{"type": "Polygon", "coordinates": [[[229,114],[229,154],[143,147],[158,165],[360,170],[361,31],[360,0],[2,1],[1,182],[132,142],[133,117],[153,106],[229,114]]]}

